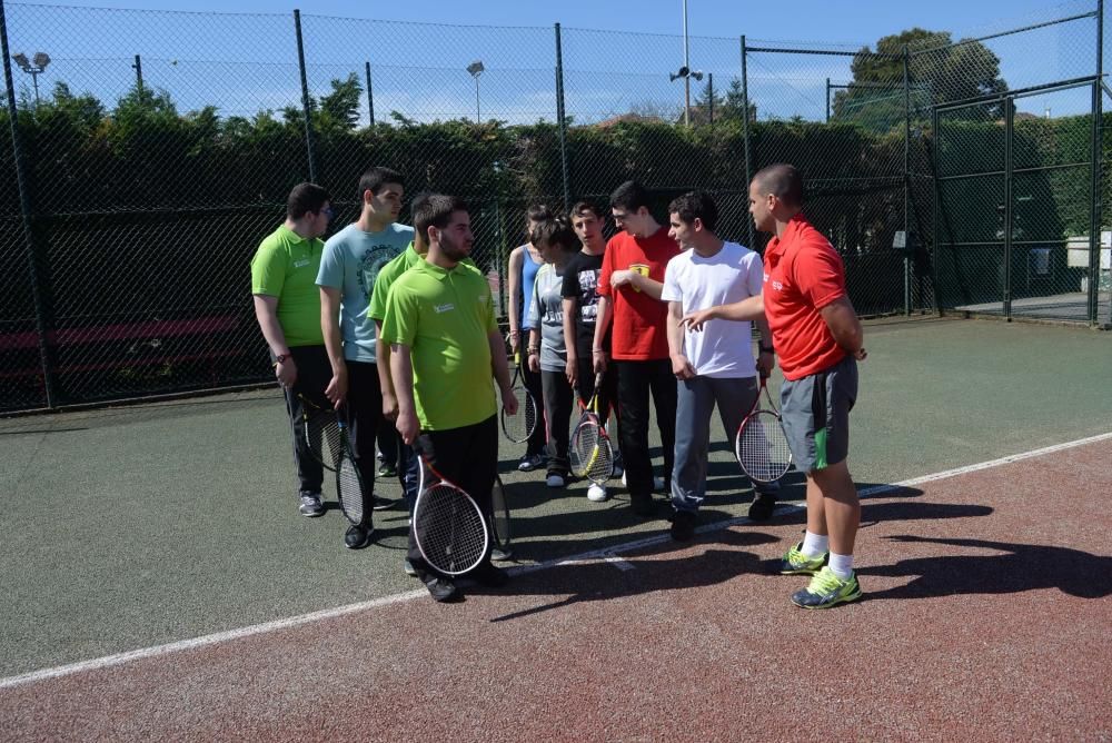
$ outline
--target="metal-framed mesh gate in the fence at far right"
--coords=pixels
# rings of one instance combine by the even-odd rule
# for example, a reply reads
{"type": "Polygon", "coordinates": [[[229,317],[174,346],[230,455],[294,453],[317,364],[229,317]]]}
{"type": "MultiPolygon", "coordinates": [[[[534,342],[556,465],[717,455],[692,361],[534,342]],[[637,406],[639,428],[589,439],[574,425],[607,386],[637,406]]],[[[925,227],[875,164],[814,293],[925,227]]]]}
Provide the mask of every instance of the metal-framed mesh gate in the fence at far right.
{"type": "Polygon", "coordinates": [[[939,308],[1096,325],[1109,315],[1096,80],[934,110],[939,308]]]}

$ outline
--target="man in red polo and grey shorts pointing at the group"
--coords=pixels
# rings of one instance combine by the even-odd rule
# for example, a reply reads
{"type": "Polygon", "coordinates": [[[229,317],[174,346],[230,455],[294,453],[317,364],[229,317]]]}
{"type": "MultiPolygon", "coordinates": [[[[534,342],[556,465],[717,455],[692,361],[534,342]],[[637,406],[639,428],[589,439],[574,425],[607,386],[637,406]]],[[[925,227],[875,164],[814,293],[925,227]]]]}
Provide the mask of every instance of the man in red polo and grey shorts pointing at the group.
{"type": "Polygon", "coordinates": [[[807,474],[807,532],[781,562],[784,575],[811,575],[792,602],[827,608],[861,597],[853,545],[861,504],[846,464],[861,323],[845,291],[845,268],[830,241],[804,219],[803,178],[790,165],[761,170],[749,185],[757,229],[775,237],[765,249],[763,291],[733,305],[693,313],[693,329],[711,319],[768,317],[780,356],[784,430],[796,467],[807,474]]]}

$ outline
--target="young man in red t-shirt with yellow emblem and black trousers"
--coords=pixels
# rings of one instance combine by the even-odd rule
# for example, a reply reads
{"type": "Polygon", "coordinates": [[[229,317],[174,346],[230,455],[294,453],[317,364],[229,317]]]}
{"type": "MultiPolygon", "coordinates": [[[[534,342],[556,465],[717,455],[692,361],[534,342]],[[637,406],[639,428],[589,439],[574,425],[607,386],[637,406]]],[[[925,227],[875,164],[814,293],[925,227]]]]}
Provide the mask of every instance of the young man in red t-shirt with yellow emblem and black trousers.
{"type": "Polygon", "coordinates": [[[598,275],[598,313],[592,345],[596,374],[606,370],[603,345],[610,336],[610,355],[618,370],[620,448],[629,505],[638,516],[653,516],[653,462],[648,456],[648,395],[656,406],[656,425],[664,447],[665,493],[672,489],[676,444],[676,378],[668,356],[667,303],[661,301],[664,269],[679,246],[648,210],[648,192],[627,180],[610,194],[610,214],[623,230],[606,244],[598,275]]]}

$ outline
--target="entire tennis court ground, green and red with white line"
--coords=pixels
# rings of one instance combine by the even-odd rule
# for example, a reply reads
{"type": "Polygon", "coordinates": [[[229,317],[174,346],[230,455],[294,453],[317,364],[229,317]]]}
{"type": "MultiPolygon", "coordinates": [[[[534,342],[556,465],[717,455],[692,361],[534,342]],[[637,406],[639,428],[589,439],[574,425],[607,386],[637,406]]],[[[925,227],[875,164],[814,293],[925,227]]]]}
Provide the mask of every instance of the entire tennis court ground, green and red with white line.
{"type": "MultiPolygon", "coordinates": [[[[436,605],[405,515],[296,513],[277,396],[0,422],[7,740],[1112,740],[1112,336],[881,320],[865,598],[793,607],[724,446],[698,538],[509,474],[505,590],[436,605]]],[[[724,435],[719,432],[718,439],[724,435]]],[[[662,516],[665,514],[662,508],[662,516]]]]}

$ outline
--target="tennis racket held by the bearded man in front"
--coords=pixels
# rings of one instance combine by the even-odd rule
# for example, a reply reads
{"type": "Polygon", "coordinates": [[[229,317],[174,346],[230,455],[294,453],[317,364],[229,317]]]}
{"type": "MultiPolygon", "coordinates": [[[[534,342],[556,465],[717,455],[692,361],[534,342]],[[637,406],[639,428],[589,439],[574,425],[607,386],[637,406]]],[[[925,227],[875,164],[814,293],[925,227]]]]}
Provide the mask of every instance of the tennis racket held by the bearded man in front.
{"type": "Polygon", "coordinates": [[[421,557],[445,575],[461,575],[483,562],[489,546],[486,518],[461,487],[445,478],[429,463],[425,447],[421,488],[414,506],[414,541],[421,557]]]}

